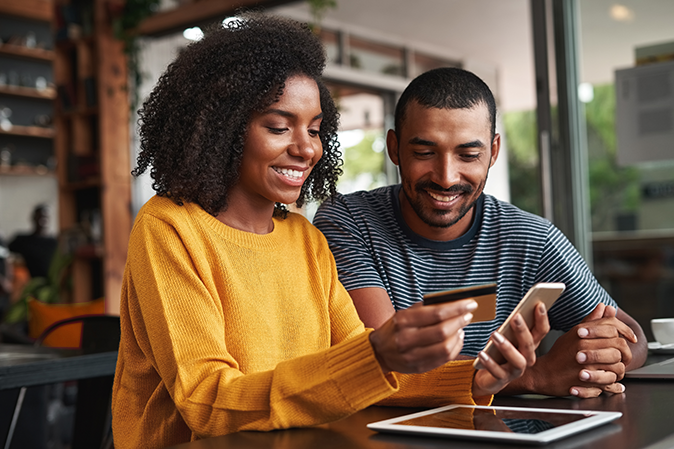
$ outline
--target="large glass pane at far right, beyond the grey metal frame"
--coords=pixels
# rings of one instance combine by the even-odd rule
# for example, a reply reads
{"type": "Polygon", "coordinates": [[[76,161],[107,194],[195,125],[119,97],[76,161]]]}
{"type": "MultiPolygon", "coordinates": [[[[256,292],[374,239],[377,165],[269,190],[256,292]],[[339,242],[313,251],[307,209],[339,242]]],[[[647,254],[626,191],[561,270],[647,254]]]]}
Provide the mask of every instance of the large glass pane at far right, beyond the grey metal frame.
{"type": "Polygon", "coordinates": [[[579,6],[595,274],[652,339],[674,316],[674,3],[579,6]]]}

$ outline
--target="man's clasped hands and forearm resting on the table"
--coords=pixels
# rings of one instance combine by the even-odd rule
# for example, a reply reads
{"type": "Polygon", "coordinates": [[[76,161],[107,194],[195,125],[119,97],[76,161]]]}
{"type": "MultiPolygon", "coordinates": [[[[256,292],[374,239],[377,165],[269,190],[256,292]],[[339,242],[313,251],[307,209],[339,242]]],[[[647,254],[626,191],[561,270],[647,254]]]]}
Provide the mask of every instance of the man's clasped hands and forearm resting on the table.
{"type": "Polygon", "coordinates": [[[634,331],[603,304],[552,346],[527,373],[529,391],[552,396],[599,396],[622,393],[618,383],[632,360],[628,345],[637,342],[634,331]]]}

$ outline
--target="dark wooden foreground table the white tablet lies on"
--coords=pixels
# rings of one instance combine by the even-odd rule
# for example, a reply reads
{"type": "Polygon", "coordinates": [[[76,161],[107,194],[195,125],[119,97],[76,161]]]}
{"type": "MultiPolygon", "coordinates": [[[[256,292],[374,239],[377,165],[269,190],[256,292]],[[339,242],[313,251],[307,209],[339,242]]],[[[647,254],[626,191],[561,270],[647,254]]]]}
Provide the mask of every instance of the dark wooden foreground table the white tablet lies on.
{"type": "MultiPolygon", "coordinates": [[[[671,356],[670,356],[671,357],[671,356]]],[[[654,360],[651,360],[654,361],[654,360]]],[[[550,449],[641,449],[674,437],[674,381],[625,379],[626,391],[596,399],[548,398],[538,396],[497,397],[494,405],[545,407],[573,410],[613,410],[623,416],[606,424],[559,440],[550,449]]],[[[421,409],[370,407],[331,424],[305,429],[272,432],[238,432],[174,446],[173,449],[428,449],[441,447],[509,448],[494,444],[432,437],[378,434],[367,429],[374,421],[393,418],[421,409]]],[[[654,446],[674,447],[674,441],[654,446]]]]}

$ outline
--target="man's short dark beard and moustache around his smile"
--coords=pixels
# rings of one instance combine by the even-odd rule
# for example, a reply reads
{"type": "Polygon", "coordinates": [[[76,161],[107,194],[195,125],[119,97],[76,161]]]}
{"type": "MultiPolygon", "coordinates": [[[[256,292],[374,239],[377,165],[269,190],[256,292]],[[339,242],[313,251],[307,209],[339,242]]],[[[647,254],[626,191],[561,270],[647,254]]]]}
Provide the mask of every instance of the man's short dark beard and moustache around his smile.
{"type": "MultiPolygon", "coordinates": [[[[484,185],[487,182],[485,179],[482,181],[480,184],[479,190],[482,192],[484,189],[484,185]]],[[[404,183],[406,186],[409,188],[411,187],[409,183],[404,183]]],[[[405,197],[407,197],[407,202],[412,206],[412,210],[417,214],[417,216],[426,223],[428,226],[434,227],[434,228],[449,228],[451,226],[454,226],[456,223],[458,223],[459,220],[461,220],[463,217],[466,216],[468,212],[472,209],[472,207],[475,205],[477,202],[478,198],[480,197],[479,195],[470,203],[470,204],[462,204],[459,206],[458,214],[457,216],[450,220],[450,221],[442,221],[442,220],[437,220],[436,218],[438,217],[443,217],[445,215],[448,215],[452,212],[453,210],[435,210],[435,209],[427,209],[427,207],[424,205],[423,201],[419,199],[421,195],[428,195],[426,193],[426,189],[433,190],[438,193],[444,193],[448,196],[451,196],[452,194],[455,193],[463,193],[464,195],[471,195],[475,189],[473,186],[470,184],[456,184],[450,187],[449,189],[443,189],[440,187],[438,184],[432,182],[432,181],[419,181],[414,185],[414,191],[417,193],[417,199],[413,200],[410,198],[410,195],[407,193],[407,189],[405,188],[405,185],[403,185],[403,192],[405,194],[405,197]]]]}

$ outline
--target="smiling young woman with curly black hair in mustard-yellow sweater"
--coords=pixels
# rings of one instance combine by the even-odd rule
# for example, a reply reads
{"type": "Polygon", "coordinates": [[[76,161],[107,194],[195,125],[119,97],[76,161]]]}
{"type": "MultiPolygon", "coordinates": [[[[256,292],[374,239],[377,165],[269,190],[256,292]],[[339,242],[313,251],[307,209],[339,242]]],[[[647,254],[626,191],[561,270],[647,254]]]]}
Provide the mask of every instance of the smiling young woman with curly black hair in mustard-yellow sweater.
{"type": "Polygon", "coordinates": [[[157,196],[131,234],[113,390],[117,448],[333,421],[380,403],[488,403],[535,361],[455,359],[474,301],[366,330],[323,235],[283,204],[335,192],[338,114],[318,39],[245,16],[169,66],[141,111],[136,175],[157,196]],[[400,374],[425,373],[425,374],[400,374]]]}

